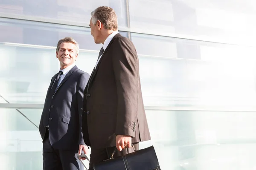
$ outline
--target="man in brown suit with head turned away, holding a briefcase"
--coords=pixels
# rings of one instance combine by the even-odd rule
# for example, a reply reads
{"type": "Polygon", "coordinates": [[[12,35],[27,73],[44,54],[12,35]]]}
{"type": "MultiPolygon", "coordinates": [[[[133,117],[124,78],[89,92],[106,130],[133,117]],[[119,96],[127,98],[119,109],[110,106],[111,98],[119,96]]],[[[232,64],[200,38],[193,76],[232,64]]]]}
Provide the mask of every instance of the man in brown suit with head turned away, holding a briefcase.
{"type": "Polygon", "coordinates": [[[112,8],[101,6],[91,15],[94,42],[103,47],[84,91],[83,135],[91,146],[89,170],[109,159],[115,147],[128,154],[134,151],[131,144],[138,149],[138,142],[150,140],[136,49],[118,33],[112,8]]]}

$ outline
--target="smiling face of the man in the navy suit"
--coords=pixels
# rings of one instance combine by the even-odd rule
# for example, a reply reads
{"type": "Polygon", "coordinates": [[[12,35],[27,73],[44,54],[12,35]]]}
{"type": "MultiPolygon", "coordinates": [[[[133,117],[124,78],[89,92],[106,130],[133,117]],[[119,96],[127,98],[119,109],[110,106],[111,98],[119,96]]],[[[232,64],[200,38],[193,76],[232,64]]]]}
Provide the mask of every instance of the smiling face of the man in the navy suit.
{"type": "Polygon", "coordinates": [[[59,51],[56,51],[56,57],[60,61],[61,70],[72,65],[76,61],[77,48],[71,42],[62,42],[59,51]]]}

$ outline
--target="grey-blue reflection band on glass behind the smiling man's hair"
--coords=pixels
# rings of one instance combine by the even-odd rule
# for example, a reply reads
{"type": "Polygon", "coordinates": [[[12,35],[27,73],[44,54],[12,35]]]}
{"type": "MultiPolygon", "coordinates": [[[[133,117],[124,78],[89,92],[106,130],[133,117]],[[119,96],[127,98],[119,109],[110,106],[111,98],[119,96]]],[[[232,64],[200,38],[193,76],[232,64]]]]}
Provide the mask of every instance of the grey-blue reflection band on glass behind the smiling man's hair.
{"type": "Polygon", "coordinates": [[[0,34],[0,42],[56,47],[61,38],[73,37],[81,49],[101,48],[94,43],[90,28],[0,18],[0,30],[5,33],[0,34]]]}

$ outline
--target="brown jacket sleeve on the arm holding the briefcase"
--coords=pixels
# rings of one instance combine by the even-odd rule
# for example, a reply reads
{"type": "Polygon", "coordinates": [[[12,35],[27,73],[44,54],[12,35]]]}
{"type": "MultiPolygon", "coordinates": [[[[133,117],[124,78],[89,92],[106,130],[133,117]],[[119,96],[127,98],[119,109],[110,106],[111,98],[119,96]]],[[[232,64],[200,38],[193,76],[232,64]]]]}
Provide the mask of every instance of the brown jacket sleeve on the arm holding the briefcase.
{"type": "Polygon", "coordinates": [[[135,136],[138,109],[138,57],[127,38],[116,40],[113,50],[113,72],[117,90],[116,135],[135,136]]]}

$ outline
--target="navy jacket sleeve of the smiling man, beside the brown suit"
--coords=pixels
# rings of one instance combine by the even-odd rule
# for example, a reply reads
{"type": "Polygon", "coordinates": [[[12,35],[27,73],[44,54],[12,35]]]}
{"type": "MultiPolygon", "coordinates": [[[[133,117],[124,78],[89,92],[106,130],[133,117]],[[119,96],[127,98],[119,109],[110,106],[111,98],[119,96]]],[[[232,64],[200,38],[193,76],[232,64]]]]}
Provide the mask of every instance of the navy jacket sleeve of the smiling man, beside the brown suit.
{"type": "Polygon", "coordinates": [[[80,81],[77,87],[77,105],[79,113],[79,144],[85,145],[82,132],[82,115],[83,115],[83,98],[84,98],[84,89],[87,85],[90,75],[88,73],[83,73],[81,75],[80,81]]]}

